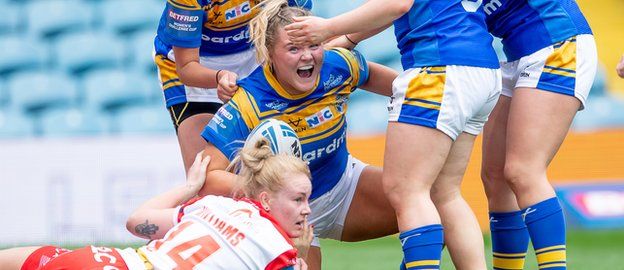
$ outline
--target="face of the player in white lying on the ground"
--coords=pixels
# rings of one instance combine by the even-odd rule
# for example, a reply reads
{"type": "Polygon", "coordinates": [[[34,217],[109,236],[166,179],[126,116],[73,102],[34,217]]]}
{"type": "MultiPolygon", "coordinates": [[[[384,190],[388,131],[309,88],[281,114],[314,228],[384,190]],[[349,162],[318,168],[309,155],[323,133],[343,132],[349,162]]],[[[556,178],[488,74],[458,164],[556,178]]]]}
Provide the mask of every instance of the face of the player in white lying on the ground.
{"type": "Polygon", "coordinates": [[[280,191],[270,195],[270,213],[290,237],[299,237],[303,233],[303,223],[310,214],[308,199],[312,184],[308,176],[302,173],[284,175],[283,183],[280,191]]]}

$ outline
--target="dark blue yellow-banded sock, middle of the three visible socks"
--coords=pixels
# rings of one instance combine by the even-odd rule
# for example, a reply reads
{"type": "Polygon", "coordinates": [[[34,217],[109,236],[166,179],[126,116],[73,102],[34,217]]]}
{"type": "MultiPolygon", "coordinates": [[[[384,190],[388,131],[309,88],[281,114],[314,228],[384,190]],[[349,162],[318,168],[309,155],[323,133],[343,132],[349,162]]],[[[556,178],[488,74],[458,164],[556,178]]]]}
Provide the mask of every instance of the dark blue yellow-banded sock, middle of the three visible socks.
{"type": "Polygon", "coordinates": [[[490,213],[494,270],[524,268],[529,232],[522,217],[522,211],[490,213]]]}

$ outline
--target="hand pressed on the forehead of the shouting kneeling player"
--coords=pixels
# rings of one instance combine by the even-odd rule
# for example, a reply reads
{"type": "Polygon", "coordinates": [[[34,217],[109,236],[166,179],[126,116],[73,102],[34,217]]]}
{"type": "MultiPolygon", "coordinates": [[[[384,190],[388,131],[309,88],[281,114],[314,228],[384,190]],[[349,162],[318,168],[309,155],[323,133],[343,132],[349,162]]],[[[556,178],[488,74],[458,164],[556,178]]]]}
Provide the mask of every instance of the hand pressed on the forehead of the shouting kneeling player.
{"type": "Polygon", "coordinates": [[[303,16],[294,17],[293,21],[293,23],[286,25],[284,30],[294,44],[321,44],[334,36],[327,19],[303,16]]]}

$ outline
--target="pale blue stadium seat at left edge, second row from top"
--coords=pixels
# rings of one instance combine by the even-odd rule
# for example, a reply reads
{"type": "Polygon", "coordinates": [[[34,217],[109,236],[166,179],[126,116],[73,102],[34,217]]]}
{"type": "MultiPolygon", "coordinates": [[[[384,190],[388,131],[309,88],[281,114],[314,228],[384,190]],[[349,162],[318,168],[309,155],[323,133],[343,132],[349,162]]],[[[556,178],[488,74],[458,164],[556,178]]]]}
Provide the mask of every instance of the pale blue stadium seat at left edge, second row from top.
{"type": "Polygon", "coordinates": [[[20,70],[36,69],[46,63],[47,52],[37,42],[24,36],[0,36],[0,75],[20,70]]]}

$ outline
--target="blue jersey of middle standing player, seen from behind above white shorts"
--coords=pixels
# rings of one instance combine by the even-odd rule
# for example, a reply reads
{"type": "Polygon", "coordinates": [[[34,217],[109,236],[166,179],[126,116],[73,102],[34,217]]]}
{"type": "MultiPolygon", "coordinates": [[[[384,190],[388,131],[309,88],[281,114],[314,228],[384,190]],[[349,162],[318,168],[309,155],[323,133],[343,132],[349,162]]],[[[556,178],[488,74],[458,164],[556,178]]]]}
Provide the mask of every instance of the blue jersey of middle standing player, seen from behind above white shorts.
{"type": "Polygon", "coordinates": [[[499,67],[484,14],[464,7],[465,1],[414,0],[412,8],[394,21],[403,69],[499,67]]]}

